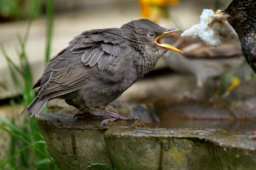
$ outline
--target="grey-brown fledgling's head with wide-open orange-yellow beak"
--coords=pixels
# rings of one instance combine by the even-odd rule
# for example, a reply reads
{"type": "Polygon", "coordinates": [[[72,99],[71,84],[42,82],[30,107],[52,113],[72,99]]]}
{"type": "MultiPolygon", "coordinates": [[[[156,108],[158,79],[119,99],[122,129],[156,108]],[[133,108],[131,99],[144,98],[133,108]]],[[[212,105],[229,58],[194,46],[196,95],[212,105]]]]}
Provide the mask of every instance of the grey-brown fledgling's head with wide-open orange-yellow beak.
{"type": "Polygon", "coordinates": [[[163,55],[166,51],[172,50],[183,53],[172,45],[161,41],[165,35],[181,29],[163,28],[147,19],[133,20],[121,28],[124,29],[125,36],[131,40],[134,47],[142,52],[158,52],[163,55]]]}

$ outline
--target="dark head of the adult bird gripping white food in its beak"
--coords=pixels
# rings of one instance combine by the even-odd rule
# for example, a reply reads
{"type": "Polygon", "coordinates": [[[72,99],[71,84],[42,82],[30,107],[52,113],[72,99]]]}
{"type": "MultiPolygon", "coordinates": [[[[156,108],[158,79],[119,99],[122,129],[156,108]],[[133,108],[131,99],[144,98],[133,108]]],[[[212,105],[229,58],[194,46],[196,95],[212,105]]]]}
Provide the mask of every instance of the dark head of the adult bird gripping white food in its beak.
{"type": "Polygon", "coordinates": [[[219,14],[236,30],[239,37],[256,30],[256,0],[233,0],[219,14]]]}

